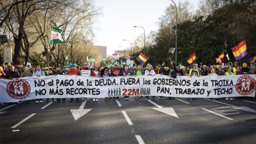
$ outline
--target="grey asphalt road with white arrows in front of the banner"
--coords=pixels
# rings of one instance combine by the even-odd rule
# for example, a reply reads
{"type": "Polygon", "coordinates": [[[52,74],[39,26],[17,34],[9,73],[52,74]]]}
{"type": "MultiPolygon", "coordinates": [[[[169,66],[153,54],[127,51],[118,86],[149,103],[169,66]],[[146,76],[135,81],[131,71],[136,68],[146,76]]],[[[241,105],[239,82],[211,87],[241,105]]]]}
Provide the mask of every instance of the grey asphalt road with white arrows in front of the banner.
{"type": "Polygon", "coordinates": [[[256,143],[255,100],[180,100],[5,104],[0,143],[256,143]]]}

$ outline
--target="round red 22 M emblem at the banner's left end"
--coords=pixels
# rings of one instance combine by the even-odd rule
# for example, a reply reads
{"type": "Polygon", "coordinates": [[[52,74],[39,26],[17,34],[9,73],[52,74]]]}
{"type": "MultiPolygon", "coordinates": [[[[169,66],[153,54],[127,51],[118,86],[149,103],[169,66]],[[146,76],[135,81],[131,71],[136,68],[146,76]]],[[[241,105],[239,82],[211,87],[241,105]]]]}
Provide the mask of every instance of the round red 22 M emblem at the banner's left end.
{"type": "Polygon", "coordinates": [[[13,99],[22,100],[28,97],[30,85],[24,79],[14,79],[7,84],[6,91],[13,99]]]}

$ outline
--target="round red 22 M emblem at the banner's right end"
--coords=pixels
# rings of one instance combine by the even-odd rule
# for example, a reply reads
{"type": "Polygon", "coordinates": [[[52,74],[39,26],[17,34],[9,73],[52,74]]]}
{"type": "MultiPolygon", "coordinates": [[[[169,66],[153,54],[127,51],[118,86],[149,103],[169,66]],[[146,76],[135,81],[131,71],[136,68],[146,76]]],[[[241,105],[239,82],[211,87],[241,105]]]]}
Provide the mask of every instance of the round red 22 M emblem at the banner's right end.
{"type": "Polygon", "coordinates": [[[241,95],[249,95],[256,89],[256,81],[252,76],[241,76],[236,82],[236,91],[241,95]]]}

